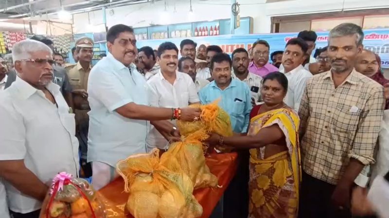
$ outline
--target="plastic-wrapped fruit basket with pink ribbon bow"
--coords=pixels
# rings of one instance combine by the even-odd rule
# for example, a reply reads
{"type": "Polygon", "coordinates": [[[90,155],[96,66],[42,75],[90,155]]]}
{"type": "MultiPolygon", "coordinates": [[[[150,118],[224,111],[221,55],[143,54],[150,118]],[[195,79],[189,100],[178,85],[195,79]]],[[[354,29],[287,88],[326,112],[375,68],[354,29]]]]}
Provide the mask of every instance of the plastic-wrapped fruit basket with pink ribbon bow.
{"type": "Polygon", "coordinates": [[[106,213],[86,180],[61,172],[53,179],[40,218],[106,218],[106,213]]]}

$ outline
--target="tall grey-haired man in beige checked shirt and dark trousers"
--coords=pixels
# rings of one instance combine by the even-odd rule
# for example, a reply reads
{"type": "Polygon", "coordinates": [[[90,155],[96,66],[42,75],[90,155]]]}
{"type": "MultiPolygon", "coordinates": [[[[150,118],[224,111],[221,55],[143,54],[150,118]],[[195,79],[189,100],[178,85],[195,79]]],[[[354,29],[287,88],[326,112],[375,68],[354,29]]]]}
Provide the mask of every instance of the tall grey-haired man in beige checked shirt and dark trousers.
{"type": "Polygon", "coordinates": [[[329,34],[331,70],[308,80],[299,110],[302,184],[299,218],[351,218],[350,194],[373,150],[384,89],[354,69],[364,34],[352,23],[329,34]]]}

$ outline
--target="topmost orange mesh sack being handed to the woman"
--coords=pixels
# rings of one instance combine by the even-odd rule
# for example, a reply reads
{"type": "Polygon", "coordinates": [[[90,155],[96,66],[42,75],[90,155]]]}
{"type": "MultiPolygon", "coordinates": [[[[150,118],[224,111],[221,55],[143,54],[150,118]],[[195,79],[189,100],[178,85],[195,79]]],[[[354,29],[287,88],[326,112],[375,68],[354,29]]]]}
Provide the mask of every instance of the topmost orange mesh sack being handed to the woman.
{"type": "MultiPolygon", "coordinates": [[[[186,122],[177,121],[179,132],[182,136],[188,137],[198,130],[205,130],[207,133],[215,132],[221,136],[232,136],[230,115],[218,105],[218,100],[208,105],[190,105],[192,108],[200,108],[201,115],[198,121],[186,122]]],[[[197,139],[201,140],[201,139],[197,139]]],[[[219,151],[229,152],[231,149],[216,146],[219,151]]]]}

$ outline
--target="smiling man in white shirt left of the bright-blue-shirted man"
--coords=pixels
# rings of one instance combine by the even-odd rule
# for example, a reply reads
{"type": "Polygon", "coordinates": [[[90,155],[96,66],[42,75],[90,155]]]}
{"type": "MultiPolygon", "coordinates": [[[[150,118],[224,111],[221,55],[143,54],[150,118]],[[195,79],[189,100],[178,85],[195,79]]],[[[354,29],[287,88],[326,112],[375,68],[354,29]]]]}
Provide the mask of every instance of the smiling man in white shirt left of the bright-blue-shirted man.
{"type": "MultiPolygon", "coordinates": [[[[177,72],[178,48],[171,42],[162,43],[158,48],[160,71],[147,81],[148,98],[152,107],[185,108],[199,104],[197,91],[192,78],[185,73],[177,72]]],[[[176,122],[170,121],[173,125],[176,122]]],[[[167,149],[171,137],[156,127],[151,126],[147,136],[147,151],[154,148],[167,149]]]]}

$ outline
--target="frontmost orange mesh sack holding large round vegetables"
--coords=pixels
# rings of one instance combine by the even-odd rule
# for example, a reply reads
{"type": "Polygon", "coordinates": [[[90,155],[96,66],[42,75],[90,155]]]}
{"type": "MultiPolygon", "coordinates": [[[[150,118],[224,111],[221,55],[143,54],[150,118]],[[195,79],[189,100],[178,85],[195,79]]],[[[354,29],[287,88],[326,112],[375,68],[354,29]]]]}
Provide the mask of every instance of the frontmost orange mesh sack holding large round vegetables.
{"type": "Polygon", "coordinates": [[[117,164],[129,192],[126,208],[135,218],[198,218],[202,207],[193,184],[177,161],[159,158],[159,150],[130,156],[117,164]]]}

